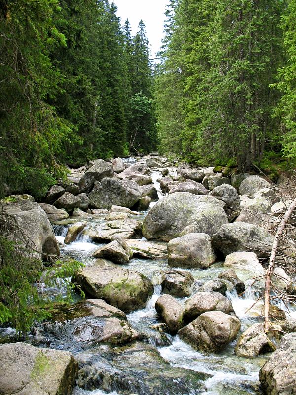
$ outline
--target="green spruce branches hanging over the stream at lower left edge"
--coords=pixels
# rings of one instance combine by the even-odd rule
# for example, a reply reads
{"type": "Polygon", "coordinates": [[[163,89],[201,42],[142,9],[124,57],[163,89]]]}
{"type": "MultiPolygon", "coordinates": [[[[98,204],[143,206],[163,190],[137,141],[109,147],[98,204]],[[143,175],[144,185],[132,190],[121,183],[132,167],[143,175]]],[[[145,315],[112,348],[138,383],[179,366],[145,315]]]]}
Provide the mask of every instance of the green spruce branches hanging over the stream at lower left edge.
{"type": "Polygon", "coordinates": [[[43,287],[66,289],[66,301],[74,288],[69,280],[83,266],[75,260],[55,261],[50,267],[34,258],[30,243],[11,240],[17,225],[2,215],[0,218],[0,324],[8,324],[26,333],[34,321],[50,316],[43,287]]]}

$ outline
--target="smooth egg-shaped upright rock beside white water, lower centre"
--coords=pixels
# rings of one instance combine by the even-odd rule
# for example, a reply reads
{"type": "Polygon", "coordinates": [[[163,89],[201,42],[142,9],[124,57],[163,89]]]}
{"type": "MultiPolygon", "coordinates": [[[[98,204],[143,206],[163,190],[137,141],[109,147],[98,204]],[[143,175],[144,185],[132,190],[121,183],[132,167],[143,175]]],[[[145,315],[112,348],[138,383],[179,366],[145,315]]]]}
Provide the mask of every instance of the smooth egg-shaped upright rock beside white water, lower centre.
{"type": "Polygon", "coordinates": [[[172,335],[175,335],[184,326],[183,309],[173,296],[161,295],[155,303],[155,309],[167,324],[172,335]]]}

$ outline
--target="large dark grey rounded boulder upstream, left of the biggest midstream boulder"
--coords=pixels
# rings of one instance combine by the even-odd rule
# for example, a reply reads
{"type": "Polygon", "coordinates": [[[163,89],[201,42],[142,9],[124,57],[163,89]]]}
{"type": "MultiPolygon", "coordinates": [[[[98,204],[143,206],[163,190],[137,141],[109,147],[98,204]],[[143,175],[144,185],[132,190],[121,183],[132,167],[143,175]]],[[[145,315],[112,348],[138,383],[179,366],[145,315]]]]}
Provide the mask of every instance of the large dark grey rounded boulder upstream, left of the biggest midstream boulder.
{"type": "Polygon", "coordinates": [[[91,207],[109,210],[113,205],[131,208],[141,196],[142,188],[134,181],[103,178],[95,182],[88,199],[91,207]]]}

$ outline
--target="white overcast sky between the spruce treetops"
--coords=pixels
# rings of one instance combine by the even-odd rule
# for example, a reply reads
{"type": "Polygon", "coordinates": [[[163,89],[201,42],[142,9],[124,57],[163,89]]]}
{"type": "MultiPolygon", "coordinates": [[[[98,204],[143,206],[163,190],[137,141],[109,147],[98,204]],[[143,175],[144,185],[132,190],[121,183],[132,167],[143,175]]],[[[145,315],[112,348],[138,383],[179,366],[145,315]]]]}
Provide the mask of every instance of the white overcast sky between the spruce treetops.
{"type": "Polygon", "coordinates": [[[163,37],[164,11],[168,0],[113,0],[118,11],[117,15],[121,18],[123,25],[126,18],[132,26],[132,33],[135,34],[141,19],[146,25],[148,40],[151,47],[152,58],[161,47],[163,37]]]}

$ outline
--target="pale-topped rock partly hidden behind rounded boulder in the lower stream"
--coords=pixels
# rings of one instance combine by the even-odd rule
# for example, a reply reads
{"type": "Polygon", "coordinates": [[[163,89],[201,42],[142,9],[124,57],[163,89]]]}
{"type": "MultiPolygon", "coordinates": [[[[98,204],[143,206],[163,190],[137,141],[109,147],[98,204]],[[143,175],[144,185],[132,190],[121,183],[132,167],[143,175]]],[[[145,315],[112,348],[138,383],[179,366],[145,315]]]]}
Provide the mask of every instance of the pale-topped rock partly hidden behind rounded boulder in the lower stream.
{"type": "Polygon", "coordinates": [[[221,311],[235,316],[232,303],[219,292],[197,292],[186,300],[184,305],[185,322],[191,322],[201,314],[221,311]]]}

